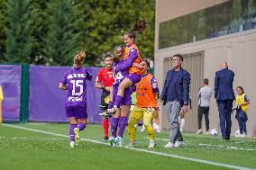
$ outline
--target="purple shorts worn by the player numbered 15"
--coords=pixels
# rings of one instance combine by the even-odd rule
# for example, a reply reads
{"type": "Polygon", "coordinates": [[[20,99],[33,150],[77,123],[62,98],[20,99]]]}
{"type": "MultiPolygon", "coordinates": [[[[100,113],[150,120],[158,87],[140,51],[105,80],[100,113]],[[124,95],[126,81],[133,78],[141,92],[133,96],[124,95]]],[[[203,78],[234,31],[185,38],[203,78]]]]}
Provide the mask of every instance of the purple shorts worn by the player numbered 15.
{"type": "Polygon", "coordinates": [[[68,118],[75,117],[77,119],[87,119],[87,108],[81,106],[65,106],[68,118]]]}

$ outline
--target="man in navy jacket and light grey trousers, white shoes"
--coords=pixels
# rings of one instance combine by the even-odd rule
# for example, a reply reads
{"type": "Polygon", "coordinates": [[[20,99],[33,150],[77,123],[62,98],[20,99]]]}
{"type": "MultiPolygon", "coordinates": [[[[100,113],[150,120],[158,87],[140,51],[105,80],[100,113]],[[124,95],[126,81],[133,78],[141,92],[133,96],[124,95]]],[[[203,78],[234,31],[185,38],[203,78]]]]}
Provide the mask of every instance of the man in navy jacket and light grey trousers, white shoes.
{"type": "Polygon", "coordinates": [[[160,95],[160,101],[166,103],[166,111],[169,117],[170,134],[169,143],[165,148],[181,147],[183,138],[179,130],[178,115],[187,112],[189,98],[190,75],[181,67],[183,57],[176,54],[172,58],[173,69],[167,72],[164,87],[160,95]]]}

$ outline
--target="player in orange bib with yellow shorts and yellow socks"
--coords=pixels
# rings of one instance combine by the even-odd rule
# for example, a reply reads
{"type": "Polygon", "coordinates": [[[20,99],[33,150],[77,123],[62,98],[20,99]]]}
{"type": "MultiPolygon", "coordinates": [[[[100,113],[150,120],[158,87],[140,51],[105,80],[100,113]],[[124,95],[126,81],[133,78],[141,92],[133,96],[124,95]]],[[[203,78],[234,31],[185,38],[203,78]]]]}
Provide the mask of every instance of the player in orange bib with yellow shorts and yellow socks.
{"type": "Polygon", "coordinates": [[[149,134],[150,145],[149,148],[155,147],[154,130],[152,127],[152,120],[157,111],[156,95],[159,92],[158,83],[154,76],[152,76],[149,69],[149,62],[142,60],[142,79],[134,86],[136,90],[137,103],[130,114],[128,121],[128,132],[130,138],[129,147],[135,146],[135,127],[134,125],[143,119],[145,130],[149,134]]]}

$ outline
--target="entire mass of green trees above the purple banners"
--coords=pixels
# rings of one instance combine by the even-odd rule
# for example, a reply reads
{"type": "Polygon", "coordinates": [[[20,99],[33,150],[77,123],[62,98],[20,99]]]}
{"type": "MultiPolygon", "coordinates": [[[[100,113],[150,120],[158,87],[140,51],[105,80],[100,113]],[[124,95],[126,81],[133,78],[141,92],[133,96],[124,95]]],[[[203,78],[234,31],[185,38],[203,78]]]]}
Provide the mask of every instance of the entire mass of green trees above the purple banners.
{"type": "Polygon", "coordinates": [[[0,0],[0,4],[0,61],[68,66],[78,50],[86,49],[87,66],[99,66],[114,46],[123,45],[124,32],[141,19],[150,27],[136,43],[142,57],[153,58],[153,0],[0,0]]]}

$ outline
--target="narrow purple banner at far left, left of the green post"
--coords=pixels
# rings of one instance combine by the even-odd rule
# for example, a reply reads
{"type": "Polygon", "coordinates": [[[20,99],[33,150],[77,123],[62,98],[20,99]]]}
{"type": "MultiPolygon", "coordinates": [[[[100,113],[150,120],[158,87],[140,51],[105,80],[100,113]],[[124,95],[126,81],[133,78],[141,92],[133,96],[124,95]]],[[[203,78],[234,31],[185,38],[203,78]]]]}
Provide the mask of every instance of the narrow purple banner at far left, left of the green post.
{"type": "Polygon", "coordinates": [[[19,65],[0,65],[0,86],[3,88],[3,121],[20,121],[21,72],[19,65]]]}

